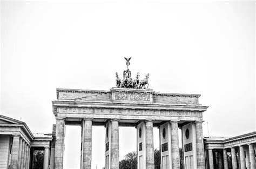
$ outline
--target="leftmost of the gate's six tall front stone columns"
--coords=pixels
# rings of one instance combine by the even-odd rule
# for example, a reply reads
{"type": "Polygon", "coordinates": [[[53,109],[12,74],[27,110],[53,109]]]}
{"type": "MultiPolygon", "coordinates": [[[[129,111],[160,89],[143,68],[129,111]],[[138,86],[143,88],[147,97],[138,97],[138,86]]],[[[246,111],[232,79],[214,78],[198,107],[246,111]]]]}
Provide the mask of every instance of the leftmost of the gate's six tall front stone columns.
{"type": "Polygon", "coordinates": [[[56,142],[54,168],[63,168],[65,118],[56,118],[56,142]]]}

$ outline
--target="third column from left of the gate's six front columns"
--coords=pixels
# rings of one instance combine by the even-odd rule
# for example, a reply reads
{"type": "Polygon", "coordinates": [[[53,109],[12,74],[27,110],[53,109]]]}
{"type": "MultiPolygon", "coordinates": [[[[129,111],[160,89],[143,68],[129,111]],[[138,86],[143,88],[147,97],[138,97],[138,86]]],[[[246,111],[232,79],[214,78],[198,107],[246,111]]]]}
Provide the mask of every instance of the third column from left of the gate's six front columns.
{"type": "Polygon", "coordinates": [[[110,168],[119,169],[119,119],[111,119],[110,168]]]}

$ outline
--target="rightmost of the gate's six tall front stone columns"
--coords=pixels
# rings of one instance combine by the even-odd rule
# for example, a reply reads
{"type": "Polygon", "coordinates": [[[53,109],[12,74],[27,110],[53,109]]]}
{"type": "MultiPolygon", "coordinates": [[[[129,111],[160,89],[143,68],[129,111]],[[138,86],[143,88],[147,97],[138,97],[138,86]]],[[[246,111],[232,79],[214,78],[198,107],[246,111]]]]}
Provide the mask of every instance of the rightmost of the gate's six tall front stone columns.
{"type": "Polygon", "coordinates": [[[205,153],[203,140],[203,121],[196,121],[197,168],[205,168],[205,153]]]}

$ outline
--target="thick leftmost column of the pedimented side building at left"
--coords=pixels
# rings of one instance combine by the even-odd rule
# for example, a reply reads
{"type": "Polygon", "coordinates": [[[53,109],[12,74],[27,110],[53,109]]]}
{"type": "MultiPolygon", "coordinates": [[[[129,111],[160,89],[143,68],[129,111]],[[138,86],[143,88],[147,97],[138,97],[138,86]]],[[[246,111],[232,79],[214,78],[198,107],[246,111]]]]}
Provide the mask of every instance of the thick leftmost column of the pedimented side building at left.
{"type": "Polygon", "coordinates": [[[11,168],[18,169],[18,158],[19,158],[19,135],[15,135],[12,140],[11,150],[11,168]]]}

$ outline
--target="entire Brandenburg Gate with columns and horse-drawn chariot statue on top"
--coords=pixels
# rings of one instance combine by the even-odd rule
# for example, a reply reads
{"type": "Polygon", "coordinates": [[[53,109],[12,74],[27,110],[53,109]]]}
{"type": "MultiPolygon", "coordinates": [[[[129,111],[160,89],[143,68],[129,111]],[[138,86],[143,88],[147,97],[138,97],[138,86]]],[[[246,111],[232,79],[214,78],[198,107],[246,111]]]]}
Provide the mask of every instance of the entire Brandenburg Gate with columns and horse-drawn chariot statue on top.
{"type": "Polygon", "coordinates": [[[54,168],[63,168],[65,125],[81,125],[81,168],[91,168],[92,126],[105,126],[105,168],[119,169],[119,126],[137,129],[137,168],[154,168],[153,127],[159,127],[161,168],[180,168],[178,128],[185,168],[205,168],[203,112],[199,94],[158,93],[147,89],[149,74],[131,79],[129,60],[124,79],[116,73],[109,91],[57,89],[54,168]]]}

